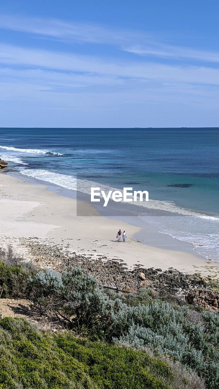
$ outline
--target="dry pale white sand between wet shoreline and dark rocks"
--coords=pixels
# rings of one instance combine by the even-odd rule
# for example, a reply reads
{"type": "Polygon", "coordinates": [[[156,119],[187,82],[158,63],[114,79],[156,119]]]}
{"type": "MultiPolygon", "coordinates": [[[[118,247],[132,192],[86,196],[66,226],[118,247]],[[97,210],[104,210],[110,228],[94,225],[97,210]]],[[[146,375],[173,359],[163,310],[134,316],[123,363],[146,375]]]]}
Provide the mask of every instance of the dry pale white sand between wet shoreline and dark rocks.
{"type": "Polygon", "coordinates": [[[137,263],[162,270],[172,266],[184,272],[205,274],[219,271],[219,264],[213,262],[210,264],[213,266],[209,266],[209,261],[195,253],[138,242],[133,236],[140,231],[139,227],[99,216],[93,207],[83,202],[78,206],[85,216],[76,216],[76,200],[48,191],[46,186],[1,172],[0,246],[12,244],[21,247],[22,238],[38,237],[49,244],[67,242],[70,250],[81,254],[92,252],[123,259],[129,266],[137,263]],[[126,243],[116,241],[120,226],[128,231],[126,243]]]}

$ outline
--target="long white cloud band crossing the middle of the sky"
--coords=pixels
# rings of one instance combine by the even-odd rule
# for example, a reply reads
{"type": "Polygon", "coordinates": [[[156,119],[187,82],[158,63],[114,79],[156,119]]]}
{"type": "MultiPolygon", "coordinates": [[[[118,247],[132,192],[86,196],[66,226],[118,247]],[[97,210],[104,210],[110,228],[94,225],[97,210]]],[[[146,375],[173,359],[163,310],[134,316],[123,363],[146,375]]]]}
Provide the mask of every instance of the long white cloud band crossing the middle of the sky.
{"type": "MultiPolygon", "coordinates": [[[[200,66],[166,65],[151,62],[103,60],[95,56],[83,56],[49,50],[0,45],[0,63],[26,68],[44,68],[87,75],[110,76],[125,79],[157,80],[159,82],[188,82],[192,84],[219,85],[219,69],[200,66]]],[[[104,79],[102,79],[103,82],[104,79]]],[[[114,81],[116,79],[114,78],[114,81]]],[[[119,81],[117,79],[117,81],[119,81]]]]}

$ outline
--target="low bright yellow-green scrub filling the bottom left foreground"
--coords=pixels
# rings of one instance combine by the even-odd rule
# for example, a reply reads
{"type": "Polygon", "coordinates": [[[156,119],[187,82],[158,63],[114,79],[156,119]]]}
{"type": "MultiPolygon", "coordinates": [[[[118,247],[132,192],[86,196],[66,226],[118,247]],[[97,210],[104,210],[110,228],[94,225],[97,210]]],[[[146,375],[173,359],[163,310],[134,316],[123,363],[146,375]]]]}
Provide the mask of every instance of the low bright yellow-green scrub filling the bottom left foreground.
{"type": "Polygon", "coordinates": [[[196,375],[143,350],[47,335],[19,318],[0,319],[0,340],[4,389],[204,389],[196,375]]]}

